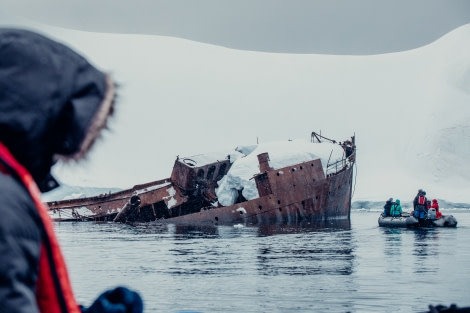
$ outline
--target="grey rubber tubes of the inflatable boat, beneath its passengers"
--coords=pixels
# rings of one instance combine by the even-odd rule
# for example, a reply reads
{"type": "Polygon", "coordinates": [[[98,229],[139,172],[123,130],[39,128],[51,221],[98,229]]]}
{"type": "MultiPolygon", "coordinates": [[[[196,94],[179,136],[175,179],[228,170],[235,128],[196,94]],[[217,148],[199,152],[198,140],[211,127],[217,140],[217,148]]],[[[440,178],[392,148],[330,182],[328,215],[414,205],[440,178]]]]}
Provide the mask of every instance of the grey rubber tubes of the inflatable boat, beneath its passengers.
{"type": "Polygon", "coordinates": [[[425,218],[418,220],[410,213],[401,216],[379,216],[381,227],[456,227],[457,219],[452,215],[442,215],[439,218],[425,218]]]}

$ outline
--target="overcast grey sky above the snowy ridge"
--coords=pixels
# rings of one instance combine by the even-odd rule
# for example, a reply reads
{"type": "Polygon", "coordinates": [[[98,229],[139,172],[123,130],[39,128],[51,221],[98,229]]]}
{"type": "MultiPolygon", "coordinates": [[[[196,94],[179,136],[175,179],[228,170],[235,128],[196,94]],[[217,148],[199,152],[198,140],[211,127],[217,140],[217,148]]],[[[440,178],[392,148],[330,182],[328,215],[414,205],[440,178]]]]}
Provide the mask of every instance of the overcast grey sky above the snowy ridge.
{"type": "Polygon", "coordinates": [[[469,0],[2,0],[24,17],[92,32],[156,34],[285,53],[376,54],[470,23],[469,0]]]}

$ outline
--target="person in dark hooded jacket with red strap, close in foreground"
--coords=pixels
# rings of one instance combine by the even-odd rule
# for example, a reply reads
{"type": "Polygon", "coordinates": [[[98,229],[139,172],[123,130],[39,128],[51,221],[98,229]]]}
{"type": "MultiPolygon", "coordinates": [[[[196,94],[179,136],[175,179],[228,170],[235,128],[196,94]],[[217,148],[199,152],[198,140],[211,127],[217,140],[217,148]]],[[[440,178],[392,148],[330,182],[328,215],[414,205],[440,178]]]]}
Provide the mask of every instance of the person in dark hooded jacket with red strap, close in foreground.
{"type": "Polygon", "coordinates": [[[140,313],[139,294],[117,287],[76,303],[40,192],[57,187],[58,159],[79,160],[113,112],[110,77],[56,41],[0,28],[0,311],[140,313]]]}

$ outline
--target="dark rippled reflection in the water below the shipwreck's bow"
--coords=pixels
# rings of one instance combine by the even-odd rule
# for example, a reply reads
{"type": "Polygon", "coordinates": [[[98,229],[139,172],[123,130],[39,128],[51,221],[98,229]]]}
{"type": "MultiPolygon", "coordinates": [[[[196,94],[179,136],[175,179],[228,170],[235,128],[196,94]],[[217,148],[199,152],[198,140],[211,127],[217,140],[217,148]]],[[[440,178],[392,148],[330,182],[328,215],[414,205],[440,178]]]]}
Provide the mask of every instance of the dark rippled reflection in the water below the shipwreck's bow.
{"type": "Polygon", "coordinates": [[[286,241],[275,237],[279,239],[260,242],[257,263],[261,275],[351,275],[354,254],[350,220],[316,222],[298,229],[277,226],[260,226],[264,231],[259,233],[294,233],[302,239],[286,241]]]}

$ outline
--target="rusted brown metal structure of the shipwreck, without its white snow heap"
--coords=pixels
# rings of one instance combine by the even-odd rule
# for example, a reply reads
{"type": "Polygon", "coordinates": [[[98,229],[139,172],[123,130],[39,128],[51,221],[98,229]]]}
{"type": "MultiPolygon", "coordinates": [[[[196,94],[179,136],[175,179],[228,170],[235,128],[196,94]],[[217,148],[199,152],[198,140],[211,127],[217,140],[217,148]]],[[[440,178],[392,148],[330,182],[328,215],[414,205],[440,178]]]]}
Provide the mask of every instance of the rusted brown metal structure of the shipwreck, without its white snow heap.
{"type": "Polygon", "coordinates": [[[162,221],[177,224],[263,224],[349,219],[356,158],[355,138],[337,143],[315,132],[312,144],[340,145],[343,158],[327,164],[320,158],[272,168],[269,154],[259,154],[253,179],[259,197],[241,193],[233,205],[218,204],[217,182],[230,167],[230,158],[177,158],[170,178],[115,193],[48,202],[55,221],[162,221]]]}

